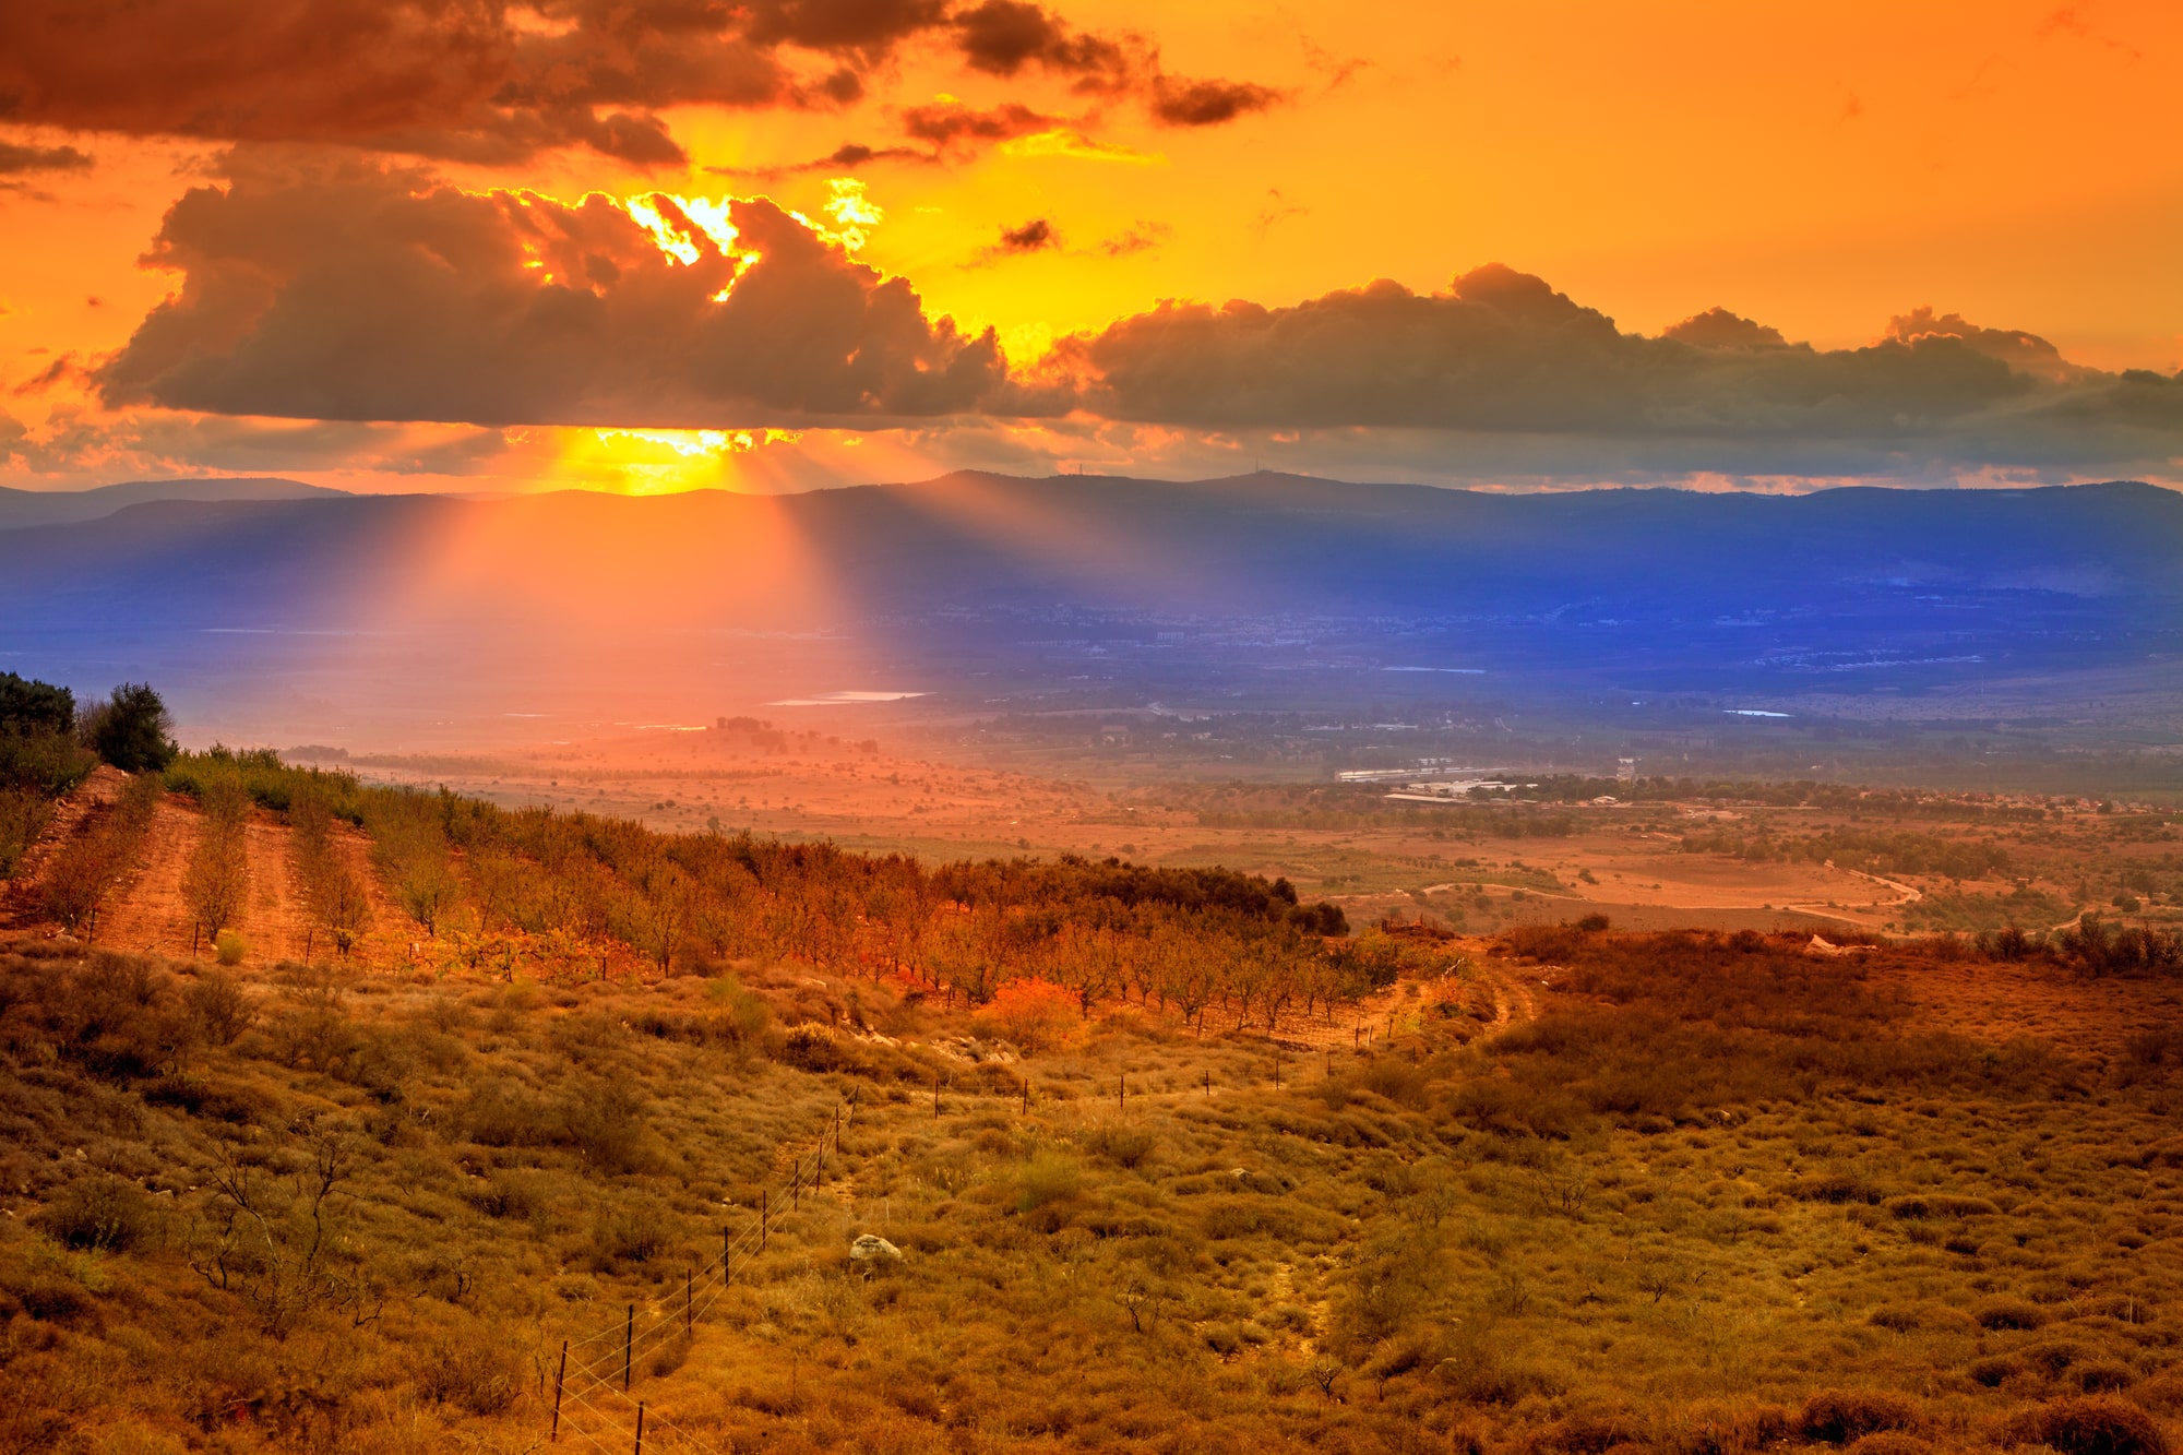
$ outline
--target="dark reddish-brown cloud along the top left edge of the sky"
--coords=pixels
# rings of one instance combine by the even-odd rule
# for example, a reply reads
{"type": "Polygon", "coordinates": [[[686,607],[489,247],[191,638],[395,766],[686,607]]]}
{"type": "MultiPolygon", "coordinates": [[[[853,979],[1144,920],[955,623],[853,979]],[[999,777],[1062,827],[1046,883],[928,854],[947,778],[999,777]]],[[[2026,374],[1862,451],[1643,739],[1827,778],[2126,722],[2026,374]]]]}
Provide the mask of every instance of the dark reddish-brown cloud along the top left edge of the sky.
{"type": "Polygon", "coordinates": [[[947,0],[9,0],[0,120],[679,164],[668,107],[847,105],[921,35],[954,42],[971,70],[1037,68],[1087,92],[1157,72],[1142,39],[1015,0],[956,13],[947,0]],[[823,72],[799,70],[810,55],[823,72]]]}

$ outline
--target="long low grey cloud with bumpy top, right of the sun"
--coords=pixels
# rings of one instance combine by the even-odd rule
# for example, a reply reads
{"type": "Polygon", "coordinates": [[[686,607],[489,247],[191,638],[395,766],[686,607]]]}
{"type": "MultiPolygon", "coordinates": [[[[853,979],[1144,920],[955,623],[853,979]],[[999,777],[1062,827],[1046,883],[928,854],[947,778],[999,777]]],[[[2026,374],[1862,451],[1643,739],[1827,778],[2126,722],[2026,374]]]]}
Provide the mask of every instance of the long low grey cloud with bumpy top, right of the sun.
{"type": "Polygon", "coordinates": [[[1393,282],[1295,308],[1161,304],[1061,341],[1035,376],[1092,417],[1207,430],[1439,430],[1609,472],[2172,459],[2183,385],[2048,367],[2052,347],[1908,315],[1871,347],[1781,345],[1727,312],[1624,334],[1504,267],[1447,293],[1393,282]]]}

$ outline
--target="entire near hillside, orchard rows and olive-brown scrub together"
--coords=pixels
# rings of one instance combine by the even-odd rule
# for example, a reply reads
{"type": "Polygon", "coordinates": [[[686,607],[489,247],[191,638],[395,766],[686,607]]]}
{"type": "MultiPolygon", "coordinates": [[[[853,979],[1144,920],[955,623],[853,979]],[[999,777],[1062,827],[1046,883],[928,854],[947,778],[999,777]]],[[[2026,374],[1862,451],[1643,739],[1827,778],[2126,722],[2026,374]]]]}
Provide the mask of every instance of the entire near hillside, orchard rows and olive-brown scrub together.
{"type": "Polygon", "coordinates": [[[1458,937],[264,756],[44,821],[0,1451],[620,1451],[640,1403],[653,1451],[2161,1455],[2183,1418],[2183,946],[2144,915],[1458,937]]]}

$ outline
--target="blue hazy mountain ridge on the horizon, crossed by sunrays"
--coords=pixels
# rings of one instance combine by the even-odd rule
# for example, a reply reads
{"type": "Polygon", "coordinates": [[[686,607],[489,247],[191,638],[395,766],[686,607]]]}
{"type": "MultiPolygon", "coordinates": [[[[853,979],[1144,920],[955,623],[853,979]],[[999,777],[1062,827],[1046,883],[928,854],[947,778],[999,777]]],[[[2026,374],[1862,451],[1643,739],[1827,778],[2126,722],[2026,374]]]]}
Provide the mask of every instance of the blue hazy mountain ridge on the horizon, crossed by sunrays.
{"type": "Polygon", "coordinates": [[[1362,710],[2015,677],[2076,717],[2069,675],[2183,658],[2176,561],[2183,494],[2137,483],[151,500],[0,531],[0,662],[74,662],[83,686],[157,671],[231,721],[277,690],[301,736],[365,710],[544,721],[611,697],[679,721],[690,699],[845,688],[1362,710]]]}

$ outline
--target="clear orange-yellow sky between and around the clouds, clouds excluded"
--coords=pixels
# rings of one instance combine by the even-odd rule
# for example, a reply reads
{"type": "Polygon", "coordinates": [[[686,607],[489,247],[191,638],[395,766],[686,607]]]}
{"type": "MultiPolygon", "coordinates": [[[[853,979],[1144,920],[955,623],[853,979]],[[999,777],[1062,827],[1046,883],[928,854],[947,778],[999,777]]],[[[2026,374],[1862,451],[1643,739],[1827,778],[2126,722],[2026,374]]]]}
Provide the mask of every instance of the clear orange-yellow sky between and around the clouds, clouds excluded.
{"type": "MultiPolygon", "coordinates": [[[[819,223],[832,184],[854,175],[882,214],[856,256],[908,280],[928,317],[998,330],[1017,371],[1054,339],[1098,332],[1159,299],[1279,308],[1377,277],[1423,295],[1489,262],[1543,277],[1629,334],[1725,306],[1788,341],[1849,350],[1930,304],[2037,334],[2091,369],[2183,369],[2174,4],[1087,0],[1054,17],[1076,35],[1137,35],[1140,55],[1157,46],[1144,74],[1216,76],[1277,98],[1218,125],[1159,125],[1135,92],[1085,94],[1072,74],[1037,66],[980,74],[950,48],[950,33],[917,31],[884,55],[858,52],[864,96],[851,105],[653,107],[688,164],[635,168],[581,146],[496,164],[419,162],[369,138],[356,151],[301,133],[290,146],[421,164],[474,192],[522,188],[568,203],[592,190],[766,194],[819,223]],[[939,162],[762,170],[847,142],[902,146],[904,111],[941,96],[974,111],[1013,103],[1050,122],[939,162]],[[1033,223],[1046,223],[1043,245],[1002,247],[1004,232],[1033,223]]],[[[803,74],[840,61],[797,46],[779,55],[803,74]]],[[[0,142],[72,146],[94,162],[0,175],[7,485],[210,470],[367,489],[773,489],[958,463],[1203,474],[1246,470],[1266,450],[1277,450],[1268,463],[1349,476],[1495,483],[1500,468],[1447,465],[1447,437],[1430,428],[1358,424],[1290,441],[1297,430],[1279,422],[1242,430],[1140,413],[1124,426],[1083,409],[1037,424],[987,409],[993,417],[976,424],[814,426],[738,452],[733,439],[661,433],[661,422],[635,417],[618,419],[629,426],[618,435],[544,419],[489,437],[463,419],[312,428],[114,406],[81,374],[37,380],[61,356],[96,365],[116,354],[179,286],[138,260],[183,190],[220,184],[225,142],[166,135],[157,118],[85,127],[70,122],[96,111],[50,116],[0,127],[0,142]]],[[[2163,474],[2183,443],[2157,430],[2150,439],[2135,457],[2074,463],[2067,441],[2041,437],[2015,454],[1958,450],[1941,468],[1956,478],[2078,478],[2122,459],[2148,478],[2183,474],[2163,474]]],[[[1500,459],[1493,448],[1460,454],[1500,459]]],[[[1613,452],[1598,463],[1580,450],[1554,459],[1574,461],[1552,468],[1572,481],[1626,476],[1613,452]]],[[[1810,452],[1786,452],[1779,470],[1749,459],[1720,470],[1856,474],[1812,465],[1810,452]]],[[[1677,461],[1646,465],[1648,478],[1711,474],[1703,452],[1677,461]]],[[[1511,483],[1539,483],[1541,470],[1508,465],[1511,483]]]]}

